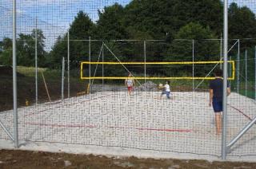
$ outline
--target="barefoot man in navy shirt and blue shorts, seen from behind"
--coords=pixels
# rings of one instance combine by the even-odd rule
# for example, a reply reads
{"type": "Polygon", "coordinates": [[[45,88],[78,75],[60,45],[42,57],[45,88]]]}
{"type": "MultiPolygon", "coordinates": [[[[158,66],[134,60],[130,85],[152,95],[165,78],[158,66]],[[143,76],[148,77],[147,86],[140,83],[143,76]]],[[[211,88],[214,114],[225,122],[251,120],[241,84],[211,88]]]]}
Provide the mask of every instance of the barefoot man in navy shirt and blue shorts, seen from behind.
{"type": "MultiPolygon", "coordinates": [[[[215,79],[210,81],[210,101],[209,106],[213,105],[215,114],[215,125],[217,135],[222,132],[222,97],[223,97],[223,79],[222,69],[216,69],[214,72],[215,79]]],[[[230,87],[227,87],[227,95],[230,95],[230,87]]]]}

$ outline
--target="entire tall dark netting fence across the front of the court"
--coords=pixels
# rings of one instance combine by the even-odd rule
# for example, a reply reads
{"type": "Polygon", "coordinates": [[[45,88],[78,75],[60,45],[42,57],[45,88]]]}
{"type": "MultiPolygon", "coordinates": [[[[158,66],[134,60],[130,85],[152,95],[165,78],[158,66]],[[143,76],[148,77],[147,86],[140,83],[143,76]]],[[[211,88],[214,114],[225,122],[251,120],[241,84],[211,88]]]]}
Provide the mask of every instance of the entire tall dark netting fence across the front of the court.
{"type": "MultiPolygon", "coordinates": [[[[222,8],[195,0],[18,1],[18,139],[219,157],[209,101],[210,81],[223,69],[222,8]]],[[[254,1],[229,1],[227,145],[256,116],[255,12],[254,1]]],[[[1,140],[14,130],[12,13],[1,0],[1,140]]],[[[255,133],[252,126],[228,157],[256,155],[255,133]]]]}

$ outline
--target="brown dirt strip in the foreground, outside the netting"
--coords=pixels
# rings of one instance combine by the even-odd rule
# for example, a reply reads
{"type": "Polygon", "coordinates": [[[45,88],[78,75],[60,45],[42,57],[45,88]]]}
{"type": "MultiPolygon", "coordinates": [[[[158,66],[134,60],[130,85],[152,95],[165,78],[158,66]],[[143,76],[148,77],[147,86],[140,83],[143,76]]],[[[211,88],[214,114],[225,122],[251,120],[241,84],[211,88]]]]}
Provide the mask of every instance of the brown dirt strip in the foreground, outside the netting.
{"type": "Polygon", "coordinates": [[[103,155],[73,155],[42,151],[0,151],[0,168],[256,168],[256,163],[205,160],[138,159],[103,155]]]}

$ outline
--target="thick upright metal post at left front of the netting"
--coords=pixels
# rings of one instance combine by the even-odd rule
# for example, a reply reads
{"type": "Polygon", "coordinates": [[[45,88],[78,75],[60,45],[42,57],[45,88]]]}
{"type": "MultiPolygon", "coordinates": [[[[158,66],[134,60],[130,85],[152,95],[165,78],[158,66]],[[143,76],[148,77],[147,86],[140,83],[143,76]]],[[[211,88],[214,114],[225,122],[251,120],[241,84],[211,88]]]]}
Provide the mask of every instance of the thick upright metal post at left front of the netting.
{"type": "Polygon", "coordinates": [[[13,0],[13,93],[14,93],[14,147],[18,148],[17,109],[17,61],[16,61],[16,0],[13,0]]]}

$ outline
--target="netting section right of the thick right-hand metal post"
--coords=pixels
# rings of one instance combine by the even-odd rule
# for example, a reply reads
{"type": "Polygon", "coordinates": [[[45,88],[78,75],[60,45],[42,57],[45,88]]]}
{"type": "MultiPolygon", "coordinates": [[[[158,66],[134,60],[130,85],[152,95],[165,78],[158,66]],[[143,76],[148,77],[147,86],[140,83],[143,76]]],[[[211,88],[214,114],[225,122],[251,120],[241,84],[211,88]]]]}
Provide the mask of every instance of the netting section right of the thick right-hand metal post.
{"type": "MultiPolygon", "coordinates": [[[[228,97],[227,103],[227,142],[231,145],[230,156],[255,155],[255,125],[251,125],[247,132],[242,131],[248,127],[255,117],[255,30],[249,27],[255,27],[256,3],[254,1],[230,1],[229,7],[229,38],[234,39],[231,44],[229,40],[230,52],[229,60],[236,61],[235,79],[230,81],[230,88],[233,92],[228,97]],[[238,18],[243,14],[247,17],[240,20],[244,25],[244,31],[239,33],[238,18]],[[247,20],[248,19],[248,20],[247,20]],[[242,36],[241,36],[242,35],[242,36]],[[235,137],[239,134],[244,135],[234,143],[235,137]],[[234,144],[230,144],[234,143],[234,144]]],[[[230,69],[228,70],[230,72],[230,69]]],[[[236,140],[235,140],[236,141],[236,140]]]]}

